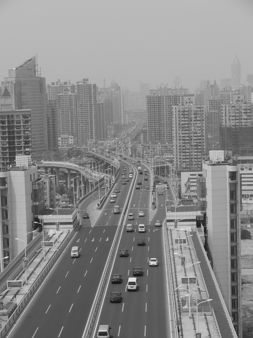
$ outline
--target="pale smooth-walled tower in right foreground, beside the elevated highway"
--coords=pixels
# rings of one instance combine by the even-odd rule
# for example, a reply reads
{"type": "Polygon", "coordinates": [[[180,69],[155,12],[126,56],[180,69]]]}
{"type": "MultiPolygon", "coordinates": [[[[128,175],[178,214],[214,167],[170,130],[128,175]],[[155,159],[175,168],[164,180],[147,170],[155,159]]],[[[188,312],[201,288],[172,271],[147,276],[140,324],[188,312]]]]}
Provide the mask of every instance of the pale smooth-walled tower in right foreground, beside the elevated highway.
{"type": "MultiPolygon", "coordinates": [[[[242,335],[240,170],[219,155],[203,161],[206,188],[206,247],[238,336],[242,335]],[[217,160],[218,159],[218,160],[217,160]]],[[[198,177],[197,177],[198,180],[198,177]]],[[[197,183],[198,184],[198,183],[197,183]]]]}

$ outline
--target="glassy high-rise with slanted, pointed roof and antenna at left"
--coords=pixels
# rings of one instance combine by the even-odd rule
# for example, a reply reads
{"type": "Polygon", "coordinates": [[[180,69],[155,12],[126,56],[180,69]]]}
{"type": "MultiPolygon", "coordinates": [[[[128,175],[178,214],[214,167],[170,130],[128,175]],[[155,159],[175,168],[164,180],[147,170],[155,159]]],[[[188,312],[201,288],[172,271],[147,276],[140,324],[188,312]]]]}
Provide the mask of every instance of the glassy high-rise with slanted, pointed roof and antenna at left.
{"type": "Polygon", "coordinates": [[[33,159],[42,158],[48,150],[46,79],[36,69],[35,56],[22,65],[9,69],[2,82],[12,97],[13,110],[31,110],[33,159]]]}

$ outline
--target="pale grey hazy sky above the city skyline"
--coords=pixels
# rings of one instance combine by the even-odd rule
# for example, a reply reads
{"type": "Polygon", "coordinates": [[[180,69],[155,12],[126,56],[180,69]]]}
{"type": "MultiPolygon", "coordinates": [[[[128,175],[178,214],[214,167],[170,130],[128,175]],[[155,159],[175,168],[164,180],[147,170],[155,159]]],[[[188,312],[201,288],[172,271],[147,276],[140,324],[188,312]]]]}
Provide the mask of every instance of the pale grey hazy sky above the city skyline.
{"type": "Polygon", "coordinates": [[[89,78],[97,86],[241,82],[253,73],[253,0],[0,0],[0,80],[33,55],[46,83],[89,78]]]}

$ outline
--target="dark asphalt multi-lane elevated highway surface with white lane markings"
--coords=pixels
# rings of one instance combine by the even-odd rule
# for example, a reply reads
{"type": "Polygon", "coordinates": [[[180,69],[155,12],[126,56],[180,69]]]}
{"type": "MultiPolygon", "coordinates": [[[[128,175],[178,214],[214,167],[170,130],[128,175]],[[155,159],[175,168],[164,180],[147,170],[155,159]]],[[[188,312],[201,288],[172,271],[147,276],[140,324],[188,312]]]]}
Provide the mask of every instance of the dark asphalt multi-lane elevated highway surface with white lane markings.
{"type": "MultiPolygon", "coordinates": [[[[126,165],[129,176],[129,161],[121,161],[126,165]]],[[[96,298],[101,279],[105,274],[108,256],[114,237],[119,226],[122,211],[131,192],[131,181],[134,189],[131,193],[129,210],[126,212],[124,224],[133,224],[134,233],[126,233],[123,227],[116,255],[114,257],[111,273],[119,272],[123,276],[123,283],[113,285],[108,280],[104,298],[101,303],[98,322],[94,325],[94,334],[99,324],[109,324],[112,327],[112,336],[116,337],[155,337],[162,335],[169,337],[168,294],[166,291],[166,270],[163,251],[162,228],[155,230],[156,219],[165,220],[165,210],[157,211],[159,217],[154,216],[150,222],[151,193],[141,192],[135,189],[137,181],[151,185],[150,177],[144,181],[145,175],[137,174],[136,165],[133,165],[135,178],[122,185],[124,179],[120,178],[115,188],[120,189],[116,193],[116,203],[120,206],[121,213],[114,215],[110,198],[105,202],[94,226],[89,219],[83,219],[82,213],[86,211],[91,200],[85,200],[79,206],[81,226],[71,242],[56,261],[54,267],[41,284],[34,298],[28,304],[22,315],[16,321],[7,336],[11,338],[42,338],[42,337],[83,337],[86,323],[91,315],[93,301],[96,298]],[[139,217],[138,212],[144,211],[144,217],[139,217]],[[129,221],[127,214],[133,212],[134,220],[129,221]],[[145,234],[138,234],[137,226],[144,223],[145,234]],[[137,246],[136,239],[144,237],[145,246],[137,246]],[[71,247],[78,245],[80,257],[70,257],[71,247]],[[119,249],[128,248],[129,257],[120,258],[119,249]],[[156,257],[158,267],[149,267],[148,259],[156,257]],[[126,291],[128,276],[132,276],[134,266],[143,267],[143,276],[138,277],[137,292],[126,291]],[[120,291],[122,302],[111,304],[109,293],[120,291]]],[[[144,168],[144,164],[142,165],[144,168]]],[[[123,172],[123,171],[122,171],[123,172]]],[[[114,192],[115,189],[113,189],[114,192]]],[[[97,192],[96,192],[97,194],[97,192]]],[[[163,197],[164,196],[159,196],[163,197]]]]}

